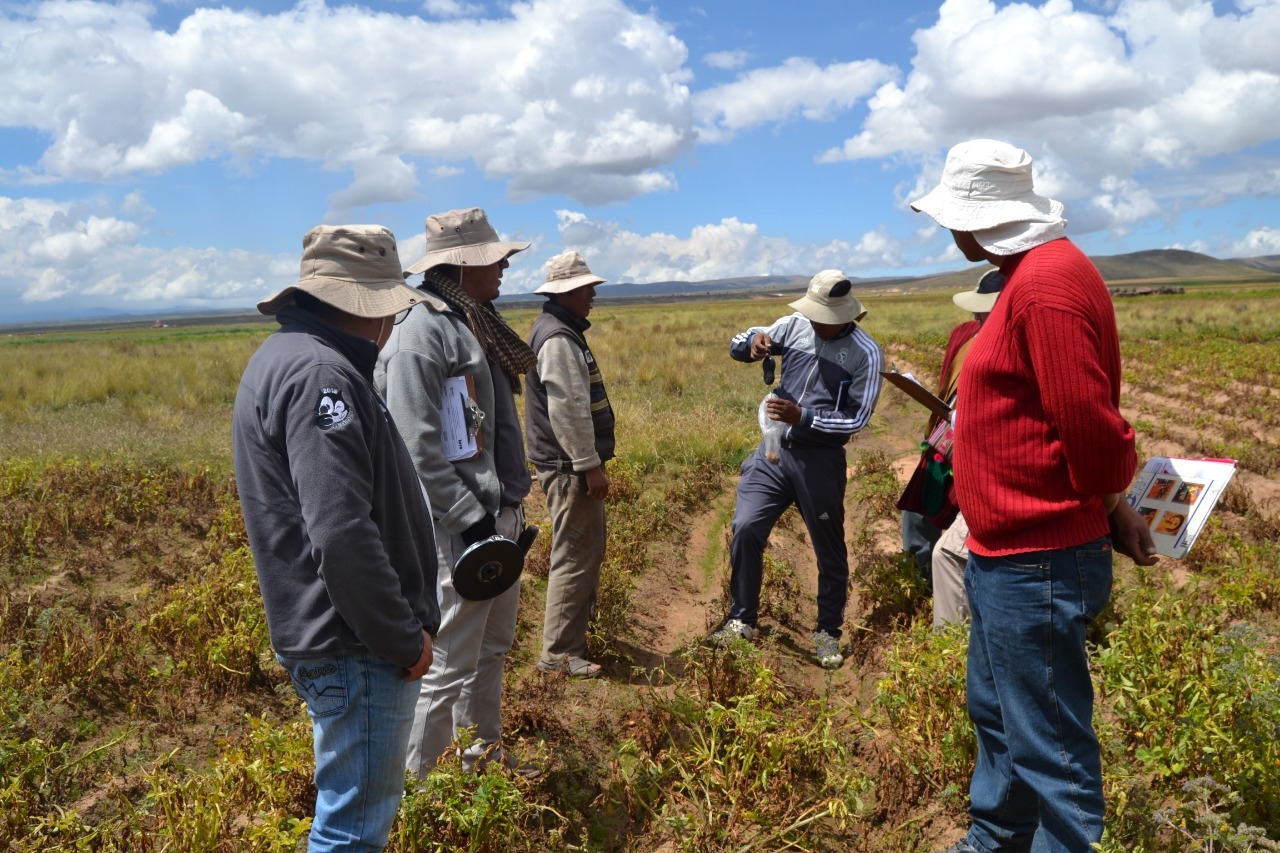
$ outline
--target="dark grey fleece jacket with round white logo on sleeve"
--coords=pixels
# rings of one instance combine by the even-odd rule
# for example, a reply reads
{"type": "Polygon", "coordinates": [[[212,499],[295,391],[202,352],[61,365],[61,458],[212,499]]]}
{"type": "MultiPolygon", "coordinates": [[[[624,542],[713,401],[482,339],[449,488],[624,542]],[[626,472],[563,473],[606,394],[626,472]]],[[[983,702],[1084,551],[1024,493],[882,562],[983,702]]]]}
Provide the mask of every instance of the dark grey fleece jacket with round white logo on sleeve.
{"type": "Polygon", "coordinates": [[[440,628],[430,507],[381,400],[376,347],[297,307],[236,394],[236,485],[273,648],[397,666],[440,628]]]}

